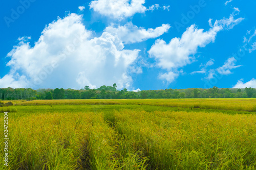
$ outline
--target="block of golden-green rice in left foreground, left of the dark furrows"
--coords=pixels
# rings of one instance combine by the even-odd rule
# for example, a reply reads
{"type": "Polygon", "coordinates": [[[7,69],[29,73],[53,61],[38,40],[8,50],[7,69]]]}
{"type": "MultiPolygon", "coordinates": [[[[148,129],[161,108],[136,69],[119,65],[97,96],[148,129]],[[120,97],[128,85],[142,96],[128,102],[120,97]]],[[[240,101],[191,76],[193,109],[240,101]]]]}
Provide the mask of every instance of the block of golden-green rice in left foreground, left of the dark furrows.
{"type": "MultiPolygon", "coordinates": [[[[87,114],[39,114],[21,117],[9,124],[11,169],[75,169],[87,138],[87,114]],[[77,119],[80,124],[75,124],[77,119]]],[[[3,167],[3,166],[2,166],[3,167]]]]}

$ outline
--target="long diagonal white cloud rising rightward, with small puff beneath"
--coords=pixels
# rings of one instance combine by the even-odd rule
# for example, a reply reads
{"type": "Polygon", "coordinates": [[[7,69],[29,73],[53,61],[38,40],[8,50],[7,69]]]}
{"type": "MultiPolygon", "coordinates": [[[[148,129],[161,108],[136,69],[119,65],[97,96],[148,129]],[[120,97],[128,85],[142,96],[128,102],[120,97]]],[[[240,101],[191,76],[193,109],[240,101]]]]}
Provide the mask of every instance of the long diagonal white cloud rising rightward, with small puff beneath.
{"type": "MultiPolygon", "coordinates": [[[[237,14],[233,12],[229,18],[216,20],[206,32],[203,29],[198,29],[196,25],[191,25],[181,38],[173,38],[168,44],[164,40],[158,39],[148,54],[157,60],[158,67],[167,71],[190,64],[195,60],[194,55],[199,47],[205,47],[210,42],[214,42],[219,31],[232,29],[243,20],[243,18],[234,19],[234,15],[237,14]]],[[[166,78],[166,81],[170,82],[171,79],[168,76],[162,75],[159,78],[166,78]]],[[[174,78],[176,77],[177,75],[174,78]]]]}

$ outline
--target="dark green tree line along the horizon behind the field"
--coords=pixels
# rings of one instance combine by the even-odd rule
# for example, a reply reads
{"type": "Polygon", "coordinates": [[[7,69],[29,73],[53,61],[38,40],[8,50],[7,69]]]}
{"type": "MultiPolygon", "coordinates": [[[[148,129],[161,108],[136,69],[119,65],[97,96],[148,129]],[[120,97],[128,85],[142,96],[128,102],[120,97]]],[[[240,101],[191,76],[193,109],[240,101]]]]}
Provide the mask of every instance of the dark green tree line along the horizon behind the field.
{"type": "Polygon", "coordinates": [[[90,89],[74,90],[71,88],[37,89],[32,88],[0,88],[0,100],[52,100],[52,99],[189,99],[189,98],[256,98],[254,88],[218,88],[209,89],[165,89],[127,91],[117,90],[113,86],[101,86],[90,89]]]}

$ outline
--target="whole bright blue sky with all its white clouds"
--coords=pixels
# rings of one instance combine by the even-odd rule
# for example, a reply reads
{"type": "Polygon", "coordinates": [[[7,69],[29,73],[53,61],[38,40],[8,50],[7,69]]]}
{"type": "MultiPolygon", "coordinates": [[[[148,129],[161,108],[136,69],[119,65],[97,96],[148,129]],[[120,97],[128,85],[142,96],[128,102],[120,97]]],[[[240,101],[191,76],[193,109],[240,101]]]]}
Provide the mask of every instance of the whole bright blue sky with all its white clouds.
{"type": "Polygon", "coordinates": [[[256,88],[256,2],[1,2],[0,87],[256,88]]]}

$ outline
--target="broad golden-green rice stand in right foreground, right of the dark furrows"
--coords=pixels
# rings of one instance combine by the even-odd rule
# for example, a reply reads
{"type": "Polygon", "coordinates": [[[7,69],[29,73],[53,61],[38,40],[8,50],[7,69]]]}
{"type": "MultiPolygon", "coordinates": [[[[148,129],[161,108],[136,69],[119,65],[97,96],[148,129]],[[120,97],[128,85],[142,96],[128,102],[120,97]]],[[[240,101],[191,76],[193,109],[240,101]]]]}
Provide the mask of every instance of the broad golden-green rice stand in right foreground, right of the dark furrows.
{"type": "Polygon", "coordinates": [[[246,166],[256,166],[252,161],[256,148],[244,140],[256,142],[256,131],[252,129],[255,115],[186,112],[155,112],[151,115],[126,110],[115,112],[115,116],[117,131],[127,138],[135,138],[137,147],[145,148],[155,168],[246,169],[246,166]],[[163,116],[165,127],[168,121],[174,125],[161,126],[158,118],[163,116]]]}

